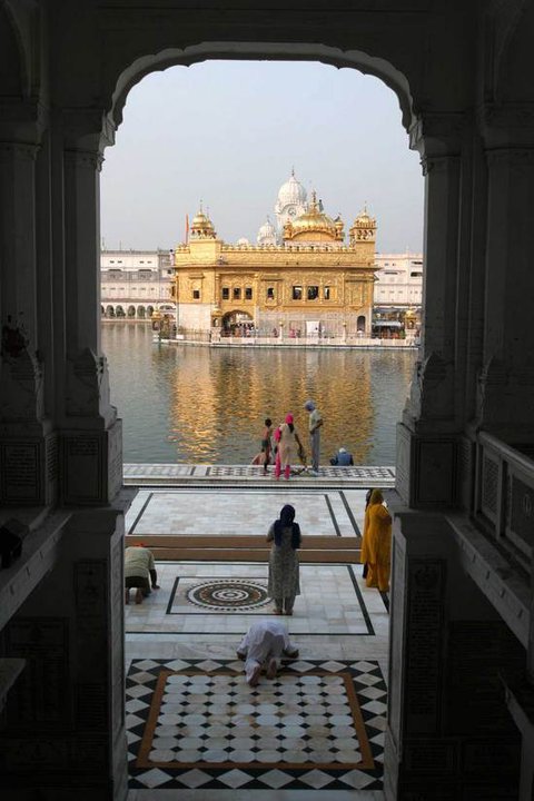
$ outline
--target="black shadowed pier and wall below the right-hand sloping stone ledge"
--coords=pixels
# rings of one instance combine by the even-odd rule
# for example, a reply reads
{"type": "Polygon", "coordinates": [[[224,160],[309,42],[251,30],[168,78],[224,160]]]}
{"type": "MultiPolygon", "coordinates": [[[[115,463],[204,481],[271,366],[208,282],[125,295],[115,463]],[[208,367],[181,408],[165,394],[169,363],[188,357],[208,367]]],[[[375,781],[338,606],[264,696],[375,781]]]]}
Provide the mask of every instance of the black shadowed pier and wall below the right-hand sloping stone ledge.
{"type": "Polygon", "coordinates": [[[462,566],[446,518],[397,510],[385,797],[517,798],[521,738],[501,676],[524,650],[462,566]]]}

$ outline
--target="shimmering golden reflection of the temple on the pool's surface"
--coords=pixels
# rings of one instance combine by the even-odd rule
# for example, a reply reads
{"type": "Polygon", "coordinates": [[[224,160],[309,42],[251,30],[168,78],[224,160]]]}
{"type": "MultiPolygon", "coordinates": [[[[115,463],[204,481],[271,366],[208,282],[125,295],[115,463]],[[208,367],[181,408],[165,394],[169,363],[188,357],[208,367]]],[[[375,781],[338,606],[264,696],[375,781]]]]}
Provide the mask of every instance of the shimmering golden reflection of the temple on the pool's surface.
{"type": "MultiPolygon", "coordinates": [[[[195,453],[196,462],[207,463],[212,462],[214,453],[231,448],[236,439],[239,447],[248,443],[251,459],[259,448],[265,417],[278,425],[291,412],[309,455],[308,414],[303,403],[313,376],[315,397],[325,416],[322,462],[327,463],[343,445],[356,464],[368,464],[376,426],[373,365],[379,359],[369,352],[355,360],[347,350],[296,348],[238,349],[229,360],[224,350],[182,348],[180,369],[172,373],[170,384],[170,439],[179,441],[180,449],[195,453]],[[356,374],[353,383],[333,379],[333,375],[356,374]]],[[[406,364],[411,367],[412,358],[406,364]]]]}

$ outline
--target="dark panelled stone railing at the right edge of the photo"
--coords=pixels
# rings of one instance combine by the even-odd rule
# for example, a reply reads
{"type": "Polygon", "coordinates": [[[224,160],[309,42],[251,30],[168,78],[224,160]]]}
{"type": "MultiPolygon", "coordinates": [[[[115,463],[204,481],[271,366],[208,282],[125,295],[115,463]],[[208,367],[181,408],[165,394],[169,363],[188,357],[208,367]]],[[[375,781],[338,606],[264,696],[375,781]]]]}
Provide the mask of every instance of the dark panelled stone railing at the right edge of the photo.
{"type": "Polygon", "coordinates": [[[534,448],[477,437],[475,518],[523,566],[534,545],[534,448]]]}

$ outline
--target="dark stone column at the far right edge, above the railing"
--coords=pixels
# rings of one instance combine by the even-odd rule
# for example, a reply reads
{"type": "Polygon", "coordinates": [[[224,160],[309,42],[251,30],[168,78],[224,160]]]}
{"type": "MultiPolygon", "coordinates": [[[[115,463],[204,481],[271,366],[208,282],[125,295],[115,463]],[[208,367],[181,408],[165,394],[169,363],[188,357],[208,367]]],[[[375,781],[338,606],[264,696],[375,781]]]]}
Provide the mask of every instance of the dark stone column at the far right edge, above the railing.
{"type": "MultiPolygon", "coordinates": [[[[476,425],[534,443],[534,130],[528,147],[487,150],[484,364],[476,425]]],[[[495,144],[494,132],[487,135],[495,144]]]]}

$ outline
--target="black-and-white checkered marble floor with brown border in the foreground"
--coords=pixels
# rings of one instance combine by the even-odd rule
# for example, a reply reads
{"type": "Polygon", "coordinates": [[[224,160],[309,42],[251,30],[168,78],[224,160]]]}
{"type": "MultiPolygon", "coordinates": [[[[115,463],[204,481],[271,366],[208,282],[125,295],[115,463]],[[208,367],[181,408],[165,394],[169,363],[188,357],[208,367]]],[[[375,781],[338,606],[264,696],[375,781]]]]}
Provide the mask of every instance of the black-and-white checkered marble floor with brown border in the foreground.
{"type": "Polygon", "coordinates": [[[135,660],[131,787],[377,790],[386,709],[376,662],[296,660],[253,689],[239,661],[135,660]]]}

